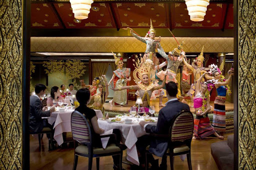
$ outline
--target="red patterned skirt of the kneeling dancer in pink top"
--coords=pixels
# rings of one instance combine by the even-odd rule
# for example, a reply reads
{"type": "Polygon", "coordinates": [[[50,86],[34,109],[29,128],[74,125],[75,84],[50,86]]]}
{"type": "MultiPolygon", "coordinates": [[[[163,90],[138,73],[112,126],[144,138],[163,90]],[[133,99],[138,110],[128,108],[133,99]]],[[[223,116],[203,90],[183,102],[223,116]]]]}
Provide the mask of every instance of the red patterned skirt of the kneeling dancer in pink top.
{"type": "Polygon", "coordinates": [[[194,136],[196,139],[203,139],[215,133],[215,130],[210,124],[208,115],[203,118],[203,116],[196,116],[194,119],[194,136]]]}

